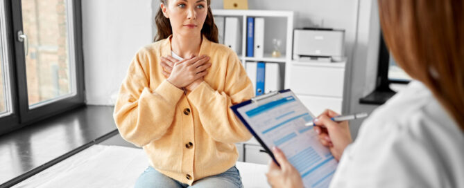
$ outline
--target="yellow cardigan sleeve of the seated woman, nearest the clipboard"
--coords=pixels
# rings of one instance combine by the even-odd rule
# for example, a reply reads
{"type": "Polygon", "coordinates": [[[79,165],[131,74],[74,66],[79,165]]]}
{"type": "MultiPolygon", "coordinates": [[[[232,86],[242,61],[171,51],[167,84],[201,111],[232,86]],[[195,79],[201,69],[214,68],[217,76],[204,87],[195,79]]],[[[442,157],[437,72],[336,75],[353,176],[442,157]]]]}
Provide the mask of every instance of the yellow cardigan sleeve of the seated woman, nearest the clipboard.
{"type": "Polygon", "coordinates": [[[253,86],[235,53],[227,57],[224,91],[214,90],[202,82],[187,97],[194,104],[205,131],[218,142],[243,142],[251,133],[235,116],[230,106],[250,100],[253,86]]]}

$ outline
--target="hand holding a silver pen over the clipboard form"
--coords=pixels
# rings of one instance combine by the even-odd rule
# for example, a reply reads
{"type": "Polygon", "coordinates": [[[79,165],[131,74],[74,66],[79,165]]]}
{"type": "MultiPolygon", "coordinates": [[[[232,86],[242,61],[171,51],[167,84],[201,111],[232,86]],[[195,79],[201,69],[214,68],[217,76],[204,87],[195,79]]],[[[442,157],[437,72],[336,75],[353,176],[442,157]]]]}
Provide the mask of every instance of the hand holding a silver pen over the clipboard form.
{"type": "Polygon", "coordinates": [[[342,122],[334,121],[343,120],[339,118],[342,118],[342,116],[338,113],[331,110],[325,110],[312,122],[314,124],[314,131],[318,133],[320,143],[329,148],[336,160],[340,160],[343,151],[347,145],[352,142],[348,122],[346,120],[342,122]]]}

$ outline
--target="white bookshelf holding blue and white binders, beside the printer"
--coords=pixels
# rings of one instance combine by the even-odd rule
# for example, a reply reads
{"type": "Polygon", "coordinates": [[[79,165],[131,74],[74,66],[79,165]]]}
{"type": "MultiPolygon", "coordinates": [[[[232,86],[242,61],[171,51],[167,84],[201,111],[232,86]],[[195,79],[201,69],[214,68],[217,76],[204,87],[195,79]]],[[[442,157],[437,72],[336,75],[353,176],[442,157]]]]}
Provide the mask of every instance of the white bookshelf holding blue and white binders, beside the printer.
{"type": "MultiPolygon", "coordinates": [[[[235,50],[237,55],[239,56],[240,61],[243,64],[243,67],[247,69],[248,72],[248,67],[247,64],[250,65],[250,63],[256,63],[256,62],[265,62],[266,65],[269,65],[270,68],[267,68],[266,66],[266,86],[264,92],[268,93],[269,91],[275,91],[275,90],[280,90],[284,88],[285,85],[285,74],[286,74],[286,64],[289,64],[291,62],[291,52],[292,52],[292,47],[293,47],[293,15],[294,13],[292,11],[280,11],[280,10],[212,10],[213,15],[215,19],[224,17],[225,19],[229,17],[234,17],[237,18],[238,24],[237,26],[237,32],[232,32],[232,35],[235,33],[238,33],[239,36],[234,36],[233,38],[237,37],[237,43],[235,44],[232,42],[232,49],[235,50]],[[255,19],[260,18],[264,19],[264,31],[261,30],[262,32],[257,32],[257,28],[253,26],[255,30],[254,37],[257,38],[257,36],[260,36],[263,41],[261,43],[263,50],[262,56],[259,57],[257,54],[255,54],[254,57],[247,57],[246,51],[247,51],[247,19],[249,17],[254,17],[255,19]],[[260,34],[259,34],[260,33],[260,34]],[[264,35],[264,36],[263,36],[264,35]],[[280,40],[280,57],[273,57],[271,53],[273,52],[274,45],[273,45],[273,39],[278,39],[280,40]],[[272,70],[272,71],[270,71],[272,70]],[[270,74],[269,74],[270,73],[270,74]],[[268,75],[271,75],[268,77],[268,75]],[[278,80],[278,81],[272,81],[268,82],[267,80],[278,80]]],[[[219,20],[218,20],[219,21],[219,20]]],[[[230,33],[230,29],[227,29],[227,21],[223,21],[223,24],[226,25],[223,33],[223,39],[226,41],[225,36],[230,33]]],[[[221,27],[221,24],[218,25],[218,27],[221,27]]],[[[233,27],[230,27],[233,28],[233,27]]],[[[261,27],[262,28],[262,27],[261,27]]],[[[220,32],[220,38],[221,38],[221,28],[219,30],[220,32]]],[[[221,39],[220,39],[221,41],[221,39]]],[[[234,39],[232,39],[234,41],[234,39]]],[[[256,44],[256,41],[255,41],[256,44]]],[[[229,44],[226,45],[231,45],[231,41],[229,40],[229,44]]],[[[250,66],[256,66],[250,65],[250,66]]],[[[255,75],[250,75],[248,74],[250,78],[256,77],[255,75]]],[[[253,83],[256,80],[252,79],[253,83]]],[[[254,84],[254,87],[257,87],[257,84],[254,84]]],[[[258,86],[258,88],[261,88],[258,86]]]]}

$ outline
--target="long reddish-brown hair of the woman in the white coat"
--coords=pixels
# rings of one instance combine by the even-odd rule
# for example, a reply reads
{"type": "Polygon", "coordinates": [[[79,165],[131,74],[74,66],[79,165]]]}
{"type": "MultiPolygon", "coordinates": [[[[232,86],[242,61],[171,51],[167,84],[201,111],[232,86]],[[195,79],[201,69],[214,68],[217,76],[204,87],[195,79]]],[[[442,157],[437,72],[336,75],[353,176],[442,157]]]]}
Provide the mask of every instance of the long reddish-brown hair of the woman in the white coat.
{"type": "Polygon", "coordinates": [[[464,1],[379,0],[397,64],[424,83],[464,131],[464,1]]]}

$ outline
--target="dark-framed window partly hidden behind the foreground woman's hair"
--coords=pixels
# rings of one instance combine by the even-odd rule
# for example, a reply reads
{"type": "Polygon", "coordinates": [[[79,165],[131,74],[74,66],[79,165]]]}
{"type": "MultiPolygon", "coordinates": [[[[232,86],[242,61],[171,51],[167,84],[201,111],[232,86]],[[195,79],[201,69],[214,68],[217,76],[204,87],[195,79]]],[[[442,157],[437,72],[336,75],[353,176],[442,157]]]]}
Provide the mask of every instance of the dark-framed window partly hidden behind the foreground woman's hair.
{"type": "Polygon", "coordinates": [[[378,63],[375,91],[359,99],[361,104],[384,104],[396,94],[390,88],[390,84],[408,84],[411,81],[411,77],[397,66],[395,59],[388,53],[384,36],[381,33],[378,63]]]}

